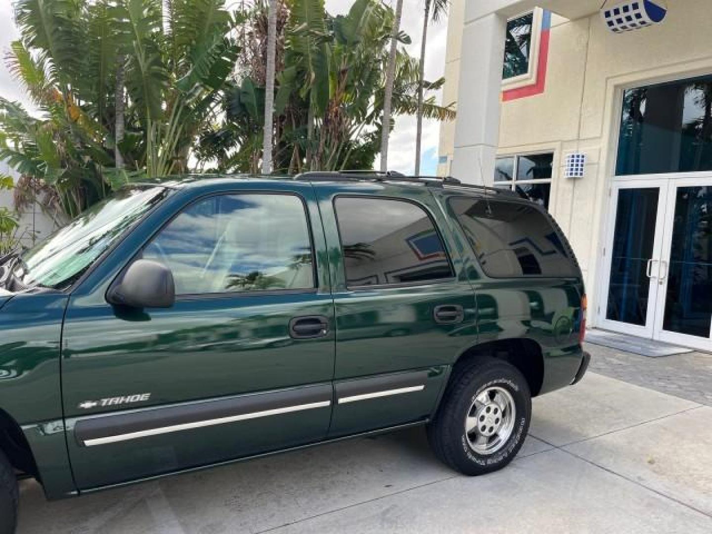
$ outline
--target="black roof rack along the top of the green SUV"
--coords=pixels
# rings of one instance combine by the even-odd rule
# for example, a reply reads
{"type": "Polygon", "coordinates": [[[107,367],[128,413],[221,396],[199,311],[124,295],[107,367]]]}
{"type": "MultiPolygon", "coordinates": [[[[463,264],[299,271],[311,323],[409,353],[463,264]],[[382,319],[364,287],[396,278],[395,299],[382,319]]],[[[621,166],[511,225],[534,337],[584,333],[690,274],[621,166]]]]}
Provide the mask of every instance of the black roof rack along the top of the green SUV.
{"type": "Polygon", "coordinates": [[[501,189],[499,187],[487,187],[477,184],[464,184],[459,179],[451,176],[406,176],[396,171],[376,171],[376,170],[344,170],[344,171],[308,171],[297,174],[294,179],[305,179],[310,182],[358,182],[370,180],[372,182],[406,182],[409,184],[422,184],[427,187],[454,186],[464,189],[475,189],[483,193],[493,193],[508,195],[530,200],[528,194],[523,189],[516,191],[511,189],[501,189]]]}

